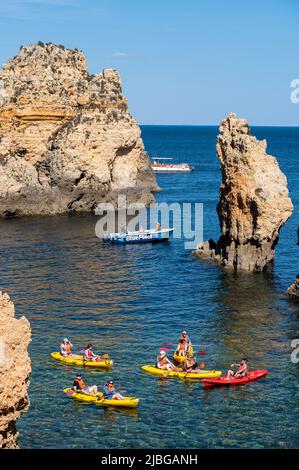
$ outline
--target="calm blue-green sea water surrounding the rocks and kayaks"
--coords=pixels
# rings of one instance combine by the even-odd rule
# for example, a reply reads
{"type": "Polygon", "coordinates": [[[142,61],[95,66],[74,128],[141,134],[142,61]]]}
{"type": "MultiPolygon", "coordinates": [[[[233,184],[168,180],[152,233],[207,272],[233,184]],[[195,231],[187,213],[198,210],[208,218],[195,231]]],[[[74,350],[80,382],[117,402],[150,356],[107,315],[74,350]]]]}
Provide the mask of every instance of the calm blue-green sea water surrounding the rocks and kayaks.
{"type": "MultiPolygon", "coordinates": [[[[219,235],[217,127],[144,126],[150,155],[197,167],[160,175],[158,201],[202,202],[204,239],[219,235]]],[[[284,293],[299,272],[299,128],[253,128],[288,177],[295,205],[273,266],[234,274],[194,259],[183,240],[110,246],[95,236],[92,215],[1,221],[0,285],[32,327],[31,406],[18,422],[23,448],[298,448],[299,305],[284,293]],[[265,380],[204,391],[198,383],[143,374],[164,342],[182,329],[207,352],[207,368],[227,370],[243,354],[265,380]],[[110,372],[84,370],[89,384],[111,377],[141,398],[136,412],[105,410],[62,393],[76,369],[51,360],[62,337],[80,350],[109,353],[110,372]]],[[[198,348],[197,348],[198,349],[198,348]]]]}

